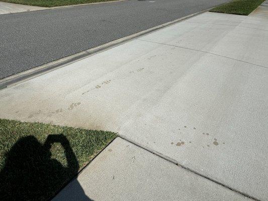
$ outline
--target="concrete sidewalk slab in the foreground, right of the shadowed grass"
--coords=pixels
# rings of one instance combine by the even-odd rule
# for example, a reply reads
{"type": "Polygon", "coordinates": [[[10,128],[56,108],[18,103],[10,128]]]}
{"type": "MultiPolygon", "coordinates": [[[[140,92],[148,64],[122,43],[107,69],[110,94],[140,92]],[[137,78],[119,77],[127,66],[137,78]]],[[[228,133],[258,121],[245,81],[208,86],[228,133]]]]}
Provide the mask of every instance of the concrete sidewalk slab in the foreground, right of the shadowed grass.
{"type": "Polygon", "coordinates": [[[117,138],[52,200],[251,199],[117,138]]]}

